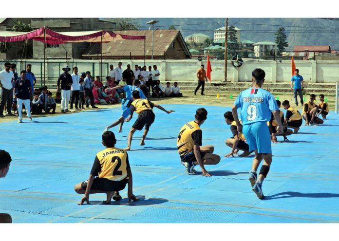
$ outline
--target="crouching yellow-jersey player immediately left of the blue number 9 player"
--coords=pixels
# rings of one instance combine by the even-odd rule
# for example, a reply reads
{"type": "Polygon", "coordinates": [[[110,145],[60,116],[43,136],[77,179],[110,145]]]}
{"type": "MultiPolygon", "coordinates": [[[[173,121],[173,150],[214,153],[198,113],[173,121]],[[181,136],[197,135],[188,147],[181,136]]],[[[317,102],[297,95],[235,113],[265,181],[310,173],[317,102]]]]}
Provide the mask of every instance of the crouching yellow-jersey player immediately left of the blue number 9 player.
{"type": "MultiPolygon", "coordinates": [[[[251,154],[253,151],[248,151],[249,150],[249,146],[248,144],[245,142],[246,138],[244,136],[243,133],[239,133],[237,130],[237,124],[235,123],[235,120],[233,118],[233,114],[231,111],[226,111],[224,113],[224,118],[225,118],[225,122],[227,123],[227,125],[231,126],[231,132],[233,134],[233,136],[231,138],[226,139],[226,145],[230,148],[232,148],[231,152],[229,152],[225,157],[229,157],[229,156],[233,156],[233,154],[237,154],[238,150],[243,150],[244,152],[239,155],[240,157],[243,156],[248,156],[249,154],[251,154]]],[[[241,122],[240,122],[241,123],[241,122]]]]}

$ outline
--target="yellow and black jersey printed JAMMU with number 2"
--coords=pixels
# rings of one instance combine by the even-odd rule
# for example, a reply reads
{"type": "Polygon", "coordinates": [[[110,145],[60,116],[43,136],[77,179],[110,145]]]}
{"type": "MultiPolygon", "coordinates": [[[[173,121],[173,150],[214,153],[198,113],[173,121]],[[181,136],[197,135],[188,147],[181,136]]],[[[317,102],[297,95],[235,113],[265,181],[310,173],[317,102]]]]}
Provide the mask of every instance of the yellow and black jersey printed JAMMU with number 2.
{"type": "Polygon", "coordinates": [[[128,179],[127,168],[130,167],[126,150],[107,148],[96,154],[91,174],[111,181],[128,179]]]}

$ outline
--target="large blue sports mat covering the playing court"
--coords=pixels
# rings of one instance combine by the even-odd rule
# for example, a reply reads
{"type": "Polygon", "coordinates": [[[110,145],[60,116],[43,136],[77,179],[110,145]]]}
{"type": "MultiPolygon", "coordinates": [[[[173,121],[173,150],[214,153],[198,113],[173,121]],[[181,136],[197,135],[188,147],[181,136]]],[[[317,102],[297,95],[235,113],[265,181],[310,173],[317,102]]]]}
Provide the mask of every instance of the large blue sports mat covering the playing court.
{"type": "MultiPolygon", "coordinates": [[[[0,213],[13,222],[339,222],[339,116],[331,111],[320,126],[302,126],[289,142],[272,144],[273,163],[264,181],[265,200],[251,190],[251,157],[225,158],[225,140],[232,136],[224,120],[229,107],[204,106],[203,145],[213,145],[222,157],[206,169],[213,175],[188,176],[180,164],[176,138],[194,119],[198,105],[154,108],[145,146],[136,131],[129,151],[133,193],[141,200],[102,204],[105,194],[91,194],[91,205],[77,205],[82,195],[74,185],[88,178],[96,152],[103,149],[101,134],[121,109],[100,109],[53,117],[0,123],[1,147],[12,156],[6,178],[0,179],[0,213]]],[[[116,135],[118,148],[136,115],[116,135]]],[[[282,137],[278,137],[282,140],[282,137]]],[[[196,167],[198,174],[200,168],[196,167]]]]}

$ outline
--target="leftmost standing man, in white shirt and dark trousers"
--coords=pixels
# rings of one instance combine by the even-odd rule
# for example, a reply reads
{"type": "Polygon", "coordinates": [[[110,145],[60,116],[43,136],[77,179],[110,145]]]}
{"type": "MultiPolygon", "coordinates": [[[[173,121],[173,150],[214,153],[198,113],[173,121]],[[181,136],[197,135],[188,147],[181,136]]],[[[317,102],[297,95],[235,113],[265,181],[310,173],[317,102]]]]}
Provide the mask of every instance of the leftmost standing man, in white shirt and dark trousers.
{"type": "Polygon", "coordinates": [[[11,95],[12,92],[12,80],[14,79],[13,71],[10,70],[11,63],[6,62],[5,63],[5,69],[0,72],[0,87],[2,90],[1,99],[0,99],[0,117],[5,117],[3,115],[3,109],[5,107],[5,104],[7,102],[7,116],[14,116],[12,114],[12,101],[13,98],[11,95]]]}

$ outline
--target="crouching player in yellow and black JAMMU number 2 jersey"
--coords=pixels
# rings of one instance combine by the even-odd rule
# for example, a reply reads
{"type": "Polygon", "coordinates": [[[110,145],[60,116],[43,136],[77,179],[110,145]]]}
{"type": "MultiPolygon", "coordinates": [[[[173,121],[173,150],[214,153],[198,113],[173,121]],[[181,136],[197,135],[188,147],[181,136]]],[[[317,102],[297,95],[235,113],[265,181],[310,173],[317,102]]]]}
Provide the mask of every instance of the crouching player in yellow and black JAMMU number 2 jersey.
{"type": "Polygon", "coordinates": [[[96,154],[91,174],[87,181],[75,185],[76,193],[85,194],[79,205],[87,202],[92,193],[106,193],[104,204],[110,204],[111,199],[119,201],[119,191],[128,184],[127,196],[131,200],[138,201],[132,190],[132,171],[128,160],[128,154],[124,149],[115,148],[116,139],[112,131],[102,133],[102,144],[105,149],[96,154]],[[94,178],[97,176],[96,178],[94,178]]]}

